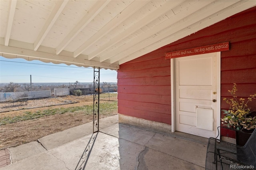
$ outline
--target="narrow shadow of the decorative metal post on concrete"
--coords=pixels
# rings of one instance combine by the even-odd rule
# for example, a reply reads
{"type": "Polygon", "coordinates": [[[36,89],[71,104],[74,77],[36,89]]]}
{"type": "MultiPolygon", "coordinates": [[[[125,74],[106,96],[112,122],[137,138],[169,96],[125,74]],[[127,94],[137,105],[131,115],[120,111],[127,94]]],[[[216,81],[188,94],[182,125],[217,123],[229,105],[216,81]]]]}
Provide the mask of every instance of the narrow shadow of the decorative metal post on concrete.
{"type": "Polygon", "coordinates": [[[95,132],[92,134],[86,148],[84,149],[84,152],[83,152],[78,164],[76,165],[75,170],[84,170],[85,169],[97,136],[98,136],[98,132],[95,132]]]}

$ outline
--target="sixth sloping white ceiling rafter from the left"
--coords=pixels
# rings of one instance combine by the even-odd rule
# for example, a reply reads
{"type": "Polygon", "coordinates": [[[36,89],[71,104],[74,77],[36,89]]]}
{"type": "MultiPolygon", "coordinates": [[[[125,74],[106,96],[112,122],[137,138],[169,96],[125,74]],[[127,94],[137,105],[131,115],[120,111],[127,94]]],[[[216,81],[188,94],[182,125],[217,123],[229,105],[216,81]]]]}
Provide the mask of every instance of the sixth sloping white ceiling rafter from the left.
{"type": "MultiPolygon", "coordinates": [[[[143,34],[140,34],[138,37],[132,39],[128,43],[125,43],[124,45],[121,45],[120,47],[117,47],[116,49],[113,49],[112,51],[104,53],[104,55],[101,56],[101,58],[111,58],[110,60],[114,60],[112,57],[115,56],[118,53],[121,53],[122,51],[125,51],[126,49],[134,46],[135,44],[143,41],[144,39],[156,34],[157,32],[160,32],[161,30],[164,30],[165,28],[171,26],[172,24],[178,22],[179,20],[182,20],[182,18],[185,18],[186,16],[196,12],[197,10],[200,10],[204,6],[210,4],[212,1],[200,1],[193,5],[191,5],[189,8],[182,10],[178,14],[168,18],[164,22],[158,24],[154,28],[148,30],[147,32],[144,32],[143,34]]],[[[141,47],[143,48],[143,47],[141,47]]]]}

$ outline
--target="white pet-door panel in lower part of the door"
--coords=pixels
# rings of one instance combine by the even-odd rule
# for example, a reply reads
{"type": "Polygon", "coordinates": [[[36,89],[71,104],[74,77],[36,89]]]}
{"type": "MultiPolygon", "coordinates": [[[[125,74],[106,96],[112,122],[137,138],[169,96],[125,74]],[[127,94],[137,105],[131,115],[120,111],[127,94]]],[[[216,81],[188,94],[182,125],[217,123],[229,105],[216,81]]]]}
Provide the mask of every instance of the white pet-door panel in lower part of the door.
{"type": "Polygon", "coordinates": [[[196,127],[213,130],[213,109],[196,108],[196,127]]]}

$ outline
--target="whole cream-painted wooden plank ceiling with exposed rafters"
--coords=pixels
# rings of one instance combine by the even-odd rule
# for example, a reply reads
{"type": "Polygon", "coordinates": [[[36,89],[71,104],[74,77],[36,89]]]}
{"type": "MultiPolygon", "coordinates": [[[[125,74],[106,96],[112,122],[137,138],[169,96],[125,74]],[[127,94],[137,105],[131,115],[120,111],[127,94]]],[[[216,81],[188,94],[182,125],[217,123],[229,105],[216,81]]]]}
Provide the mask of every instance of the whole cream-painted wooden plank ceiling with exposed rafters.
{"type": "Polygon", "coordinates": [[[255,0],[0,0],[0,55],[118,69],[255,5],[255,0]]]}

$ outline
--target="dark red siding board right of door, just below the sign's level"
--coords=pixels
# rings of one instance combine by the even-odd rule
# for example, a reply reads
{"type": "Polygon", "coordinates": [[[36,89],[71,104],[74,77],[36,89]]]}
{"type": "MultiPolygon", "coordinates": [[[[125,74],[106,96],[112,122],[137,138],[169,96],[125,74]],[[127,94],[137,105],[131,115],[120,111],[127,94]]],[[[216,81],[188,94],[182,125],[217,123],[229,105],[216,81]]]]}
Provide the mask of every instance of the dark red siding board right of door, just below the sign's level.
{"type": "Polygon", "coordinates": [[[221,59],[221,70],[236,70],[256,68],[256,55],[244,55],[239,57],[223,57],[221,59]],[[255,61],[255,62],[252,62],[255,61]],[[238,64],[239,63],[239,64],[238,64]]]}

